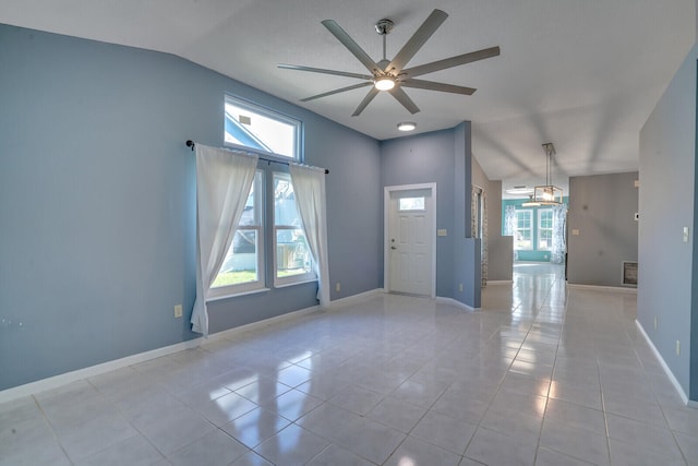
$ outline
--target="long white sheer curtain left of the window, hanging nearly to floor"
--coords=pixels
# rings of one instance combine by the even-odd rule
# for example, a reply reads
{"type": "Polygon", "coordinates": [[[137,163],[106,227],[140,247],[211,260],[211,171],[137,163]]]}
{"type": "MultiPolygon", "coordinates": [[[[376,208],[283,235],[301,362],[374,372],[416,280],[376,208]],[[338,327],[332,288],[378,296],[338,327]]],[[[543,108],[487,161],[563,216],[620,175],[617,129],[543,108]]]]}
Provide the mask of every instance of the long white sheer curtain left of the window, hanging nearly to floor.
{"type": "Polygon", "coordinates": [[[206,298],[232,243],[257,156],[196,144],[196,300],[192,331],[208,336],[206,298]]]}

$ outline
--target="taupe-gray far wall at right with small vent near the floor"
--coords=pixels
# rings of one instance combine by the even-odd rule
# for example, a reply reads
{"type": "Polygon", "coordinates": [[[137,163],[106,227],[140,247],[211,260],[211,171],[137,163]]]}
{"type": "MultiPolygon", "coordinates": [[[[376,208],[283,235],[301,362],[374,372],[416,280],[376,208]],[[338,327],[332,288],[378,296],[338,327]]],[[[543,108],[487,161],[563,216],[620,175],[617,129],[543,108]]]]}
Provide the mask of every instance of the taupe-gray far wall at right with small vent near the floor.
{"type": "Polygon", "coordinates": [[[568,283],[623,286],[623,261],[637,261],[636,180],[637,171],[569,178],[568,283]]]}

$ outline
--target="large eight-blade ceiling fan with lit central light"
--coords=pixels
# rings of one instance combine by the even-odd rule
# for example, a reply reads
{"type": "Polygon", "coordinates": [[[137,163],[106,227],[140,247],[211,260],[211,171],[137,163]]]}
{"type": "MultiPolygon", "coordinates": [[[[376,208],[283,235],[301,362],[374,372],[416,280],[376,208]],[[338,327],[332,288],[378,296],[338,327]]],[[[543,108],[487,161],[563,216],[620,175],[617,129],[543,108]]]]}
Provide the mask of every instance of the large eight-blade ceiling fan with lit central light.
{"type": "Polygon", "coordinates": [[[412,37],[402,46],[400,51],[393,60],[385,58],[385,38],[393,31],[395,24],[390,20],[381,20],[375,24],[375,31],[383,36],[383,59],[378,62],[373,61],[369,55],[333,20],[323,21],[323,25],[345,46],[349,51],[359,59],[359,61],[369,70],[371,74],[350,73],[346,71],[326,70],[322,68],[301,67],[298,64],[279,64],[278,68],[297,71],[309,71],[312,73],[334,74],[337,76],[356,77],[363,80],[362,83],[317,94],[301,99],[301,101],[314,100],[321,97],[327,97],[347,91],[358,89],[361,87],[372,86],[369,94],[361,100],[361,104],[351,113],[352,117],[361,115],[364,108],[373,100],[373,98],[382,91],[388,92],[399,101],[410,113],[414,115],[419,107],[407,95],[402,87],[414,87],[426,91],[441,91],[453,94],[472,95],[476,92],[472,87],[457,86],[446,83],[436,83],[433,81],[416,80],[414,77],[422,74],[433,73],[435,71],[458,67],[460,64],[470,63],[485,58],[492,58],[500,55],[500,47],[490,47],[486,49],[472,51],[469,53],[458,55],[456,57],[443,60],[432,61],[431,63],[421,64],[419,67],[405,68],[407,63],[414,57],[419,49],[434,34],[434,32],[446,21],[448,14],[441,10],[434,10],[429,17],[417,29],[412,37]]]}

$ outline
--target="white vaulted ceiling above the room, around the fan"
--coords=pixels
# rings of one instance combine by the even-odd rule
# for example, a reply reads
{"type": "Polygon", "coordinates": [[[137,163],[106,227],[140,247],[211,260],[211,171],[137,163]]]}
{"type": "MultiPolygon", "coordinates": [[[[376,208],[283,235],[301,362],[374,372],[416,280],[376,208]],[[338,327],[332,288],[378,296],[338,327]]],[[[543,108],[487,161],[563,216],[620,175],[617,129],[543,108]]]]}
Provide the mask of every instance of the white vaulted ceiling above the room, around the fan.
{"type": "Polygon", "coordinates": [[[696,38],[695,0],[3,0],[0,23],[181,56],[378,140],[472,121],[473,153],[505,187],[540,183],[541,144],[554,177],[637,170],[639,131],[696,38]],[[420,76],[477,87],[472,96],[406,88],[411,116],[368,88],[299,99],[358,81],[281,70],[293,63],[365,74],[321,24],[335,20],[375,61],[373,25],[395,22],[387,56],[433,9],[449,17],[410,61],[423,64],[500,46],[500,57],[420,76]]]}

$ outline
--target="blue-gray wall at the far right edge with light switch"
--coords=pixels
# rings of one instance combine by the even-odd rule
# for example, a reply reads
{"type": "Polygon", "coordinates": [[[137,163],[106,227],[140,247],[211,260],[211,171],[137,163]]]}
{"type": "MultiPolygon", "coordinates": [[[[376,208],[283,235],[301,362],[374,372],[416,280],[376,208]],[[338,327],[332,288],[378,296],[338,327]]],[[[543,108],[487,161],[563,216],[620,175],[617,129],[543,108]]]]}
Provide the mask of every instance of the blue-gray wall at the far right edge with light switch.
{"type": "Polygon", "coordinates": [[[697,60],[694,46],[640,132],[637,309],[638,321],[694,401],[698,399],[697,60]],[[693,229],[688,242],[683,241],[684,227],[693,229]]]}

